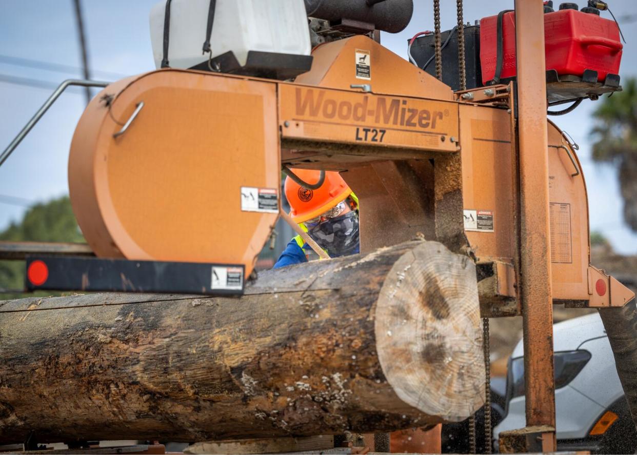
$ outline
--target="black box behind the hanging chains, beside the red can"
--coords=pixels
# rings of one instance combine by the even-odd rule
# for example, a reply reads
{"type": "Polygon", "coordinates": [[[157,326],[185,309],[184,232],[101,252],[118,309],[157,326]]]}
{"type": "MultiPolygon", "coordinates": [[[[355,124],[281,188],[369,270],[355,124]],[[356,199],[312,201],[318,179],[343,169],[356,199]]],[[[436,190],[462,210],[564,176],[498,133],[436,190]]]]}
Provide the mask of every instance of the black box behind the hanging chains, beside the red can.
{"type": "MultiPolygon", "coordinates": [[[[443,45],[449,33],[441,32],[440,44],[443,45]]],[[[454,90],[460,90],[460,71],[458,68],[458,33],[453,34],[447,46],[442,50],[442,82],[454,90]]],[[[409,44],[409,42],[407,43],[409,44]]],[[[434,55],[434,35],[416,38],[412,45],[412,57],[420,68],[434,55]]],[[[480,25],[464,27],[464,66],[466,68],[467,89],[482,87],[482,73],[480,72],[480,25]]],[[[424,68],[427,73],[436,76],[436,59],[424,68]]]]}

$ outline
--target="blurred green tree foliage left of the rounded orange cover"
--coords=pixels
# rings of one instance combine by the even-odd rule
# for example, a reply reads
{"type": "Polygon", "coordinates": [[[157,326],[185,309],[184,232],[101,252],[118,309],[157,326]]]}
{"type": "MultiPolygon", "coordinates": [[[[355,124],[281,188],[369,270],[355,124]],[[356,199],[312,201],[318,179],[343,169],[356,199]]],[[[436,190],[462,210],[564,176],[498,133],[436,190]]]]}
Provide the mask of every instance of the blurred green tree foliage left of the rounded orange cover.
{"type": "MultiPolygon", "coordinates": [[[[40,203],[27,210],[19,223],[0,233],[0,241],[8,242],[84,242],[71,209],[68,196],[40,203]]],[[[0,289],[22,289],[24,261],[0,261],[0,289]]],[[[52,295],[51,292],[40,292],[52,295]]],[[[36,294],[38,295],[38,294],[36,294]]],[[[0,293],[0,300],[24,297],[20,294],[0,293]]]]}

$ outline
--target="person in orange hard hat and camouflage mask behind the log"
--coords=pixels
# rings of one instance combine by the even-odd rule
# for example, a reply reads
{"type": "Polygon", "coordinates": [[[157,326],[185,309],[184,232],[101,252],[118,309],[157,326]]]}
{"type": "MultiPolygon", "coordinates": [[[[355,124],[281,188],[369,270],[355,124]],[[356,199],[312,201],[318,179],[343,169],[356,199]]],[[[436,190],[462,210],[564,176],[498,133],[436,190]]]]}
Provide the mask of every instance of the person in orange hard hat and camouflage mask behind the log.
{"type": "MultiPolygon", "coordinates": [[[[303,182],[318,182],[320,171],[292,170],[303,182]]],[[[329,257],[359,252],[358,198],[338,172],[326,171],[318,189],[303,187],[285,178],[290,217],[324,249],[329,257]]],[[[305,263],[318,257],[300,235],[292,238],[274,268],[305,263]]]]}

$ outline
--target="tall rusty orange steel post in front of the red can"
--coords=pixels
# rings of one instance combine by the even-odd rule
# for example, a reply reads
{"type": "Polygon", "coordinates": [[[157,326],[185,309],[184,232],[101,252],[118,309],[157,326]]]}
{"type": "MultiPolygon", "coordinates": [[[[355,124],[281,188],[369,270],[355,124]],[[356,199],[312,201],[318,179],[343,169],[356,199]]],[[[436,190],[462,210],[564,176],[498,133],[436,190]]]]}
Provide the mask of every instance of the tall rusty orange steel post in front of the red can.
{"type": "Polygon", "coordinates": [[[515,0],[520,150],[520,294],[526,424],[555,451],[553,299],[548,215],[547,87],[542,0],[515,0]],[[552,430],[551,430],[552,428],[552,430]]]}

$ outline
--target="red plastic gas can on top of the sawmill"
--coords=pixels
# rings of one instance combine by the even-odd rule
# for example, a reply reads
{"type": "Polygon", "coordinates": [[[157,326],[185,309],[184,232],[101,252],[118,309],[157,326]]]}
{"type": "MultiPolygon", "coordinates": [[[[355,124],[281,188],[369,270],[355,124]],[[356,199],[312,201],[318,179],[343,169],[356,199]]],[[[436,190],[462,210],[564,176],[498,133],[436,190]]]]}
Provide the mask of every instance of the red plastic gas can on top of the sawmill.
{"type": "MultiPolygon", "coordinates": [[[[503,64],[500,78],[516,75],[515,13],[505,13],[502,22],[503,64]]],[[[559,75],[582,76],[585,69],[598,72],[599,82],[607,74],[619,73],[622,43],[612,20],[577,10],[559,10],[544,15],[547,70],[559,75]]],[[[494,78],[497,60],[497,15],[480,21],[482,82],[494,78]]]]}

